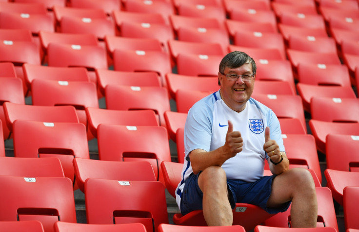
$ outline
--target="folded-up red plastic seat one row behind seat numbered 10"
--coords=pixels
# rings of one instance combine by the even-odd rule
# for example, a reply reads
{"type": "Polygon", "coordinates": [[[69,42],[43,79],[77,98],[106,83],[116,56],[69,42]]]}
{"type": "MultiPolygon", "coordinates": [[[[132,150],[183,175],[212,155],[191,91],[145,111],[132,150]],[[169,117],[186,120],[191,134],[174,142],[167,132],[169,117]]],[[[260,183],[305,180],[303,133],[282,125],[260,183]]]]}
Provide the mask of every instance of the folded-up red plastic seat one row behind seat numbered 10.
{"type": "MultiPolygon", "coordinates": [[[[57,157],[65,177],[75,180],[74,157],[90,159],[86,127],[80,123],[14,122],[15,157],[57,157]]],[[[77,185],[74,182],[74,188],[77,185]]]]}

